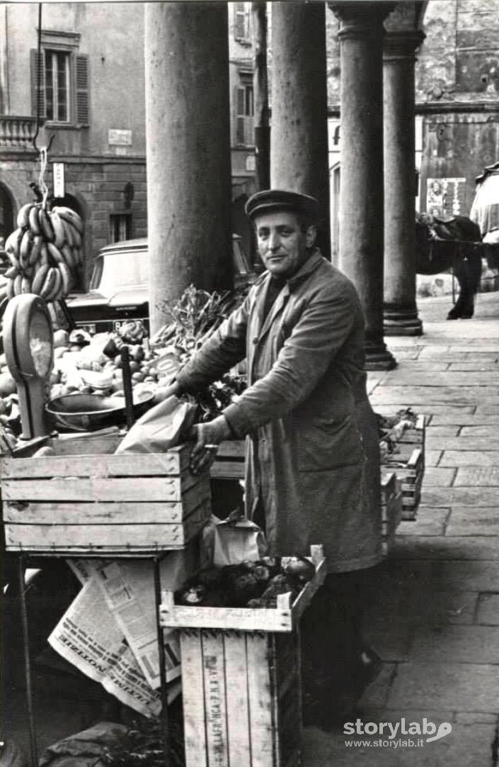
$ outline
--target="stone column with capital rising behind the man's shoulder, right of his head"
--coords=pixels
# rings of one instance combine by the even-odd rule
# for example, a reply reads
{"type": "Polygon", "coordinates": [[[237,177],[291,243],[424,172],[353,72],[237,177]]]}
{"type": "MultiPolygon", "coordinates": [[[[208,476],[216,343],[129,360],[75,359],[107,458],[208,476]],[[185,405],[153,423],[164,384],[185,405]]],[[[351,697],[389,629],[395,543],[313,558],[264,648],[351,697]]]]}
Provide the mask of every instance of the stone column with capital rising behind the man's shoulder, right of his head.
{"type": "Polygon", "coordinates": [[[364,308],[367,370],[391,370],[383,341],[383,19],[393,5],[329,6],[341,21],[339,265],[364,308]]]}

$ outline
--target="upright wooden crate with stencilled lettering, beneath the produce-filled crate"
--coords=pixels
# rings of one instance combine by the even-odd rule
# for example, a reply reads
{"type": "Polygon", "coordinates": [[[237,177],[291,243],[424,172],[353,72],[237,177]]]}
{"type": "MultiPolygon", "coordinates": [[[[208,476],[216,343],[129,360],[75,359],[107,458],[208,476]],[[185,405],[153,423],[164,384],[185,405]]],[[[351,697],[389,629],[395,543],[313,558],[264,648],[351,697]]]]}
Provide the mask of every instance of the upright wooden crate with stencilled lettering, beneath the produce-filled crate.
{"type": "Polygon", "coordinates": [[[180,632],[185,767],[298,767],[298,630],[180,632]]]}

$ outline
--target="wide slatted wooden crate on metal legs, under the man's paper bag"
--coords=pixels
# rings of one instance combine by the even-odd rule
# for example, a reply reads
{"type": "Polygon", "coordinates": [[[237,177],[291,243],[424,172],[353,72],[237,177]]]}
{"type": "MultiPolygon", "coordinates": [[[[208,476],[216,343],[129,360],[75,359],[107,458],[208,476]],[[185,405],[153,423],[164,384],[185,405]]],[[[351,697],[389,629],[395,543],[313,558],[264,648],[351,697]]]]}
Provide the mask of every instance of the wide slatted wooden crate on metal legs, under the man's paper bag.
{"type": "Polygon", "coordinates": [[[149,555],[184,548],[210,516],[191,446],[113,455],[121,436],[51,439],[55,455],[2,459],[7,551],[149,555]]]}

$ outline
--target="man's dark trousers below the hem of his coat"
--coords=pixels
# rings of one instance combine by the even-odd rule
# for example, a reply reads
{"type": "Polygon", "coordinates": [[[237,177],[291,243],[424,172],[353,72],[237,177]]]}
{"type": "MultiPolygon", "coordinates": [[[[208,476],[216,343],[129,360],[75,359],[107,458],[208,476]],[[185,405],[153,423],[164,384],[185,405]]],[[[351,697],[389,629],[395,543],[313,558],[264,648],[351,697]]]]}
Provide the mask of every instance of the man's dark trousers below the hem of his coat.
{"type": "Polygon", "coordinates": [[[364,640],[364,611],[373,600],[380,565],[329,574],[302,617],[302,686],[305,698],[360,698],[379,662],[364,640]]]}

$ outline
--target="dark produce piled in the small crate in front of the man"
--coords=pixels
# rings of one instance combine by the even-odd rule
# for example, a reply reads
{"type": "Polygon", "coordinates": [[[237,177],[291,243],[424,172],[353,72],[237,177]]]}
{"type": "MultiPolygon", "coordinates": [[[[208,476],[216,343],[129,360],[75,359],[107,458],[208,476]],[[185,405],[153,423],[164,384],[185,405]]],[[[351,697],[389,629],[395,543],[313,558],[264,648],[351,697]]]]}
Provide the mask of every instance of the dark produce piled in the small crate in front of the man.
{"type": "Polygon", "coordinates": [[[176,604],[198,607],[276,607],[279,594],[292,601],[315,575],[305,557],[263,557],[224,568],[207,568],[175,593],[176,604]]]}

